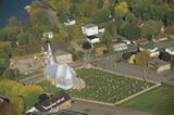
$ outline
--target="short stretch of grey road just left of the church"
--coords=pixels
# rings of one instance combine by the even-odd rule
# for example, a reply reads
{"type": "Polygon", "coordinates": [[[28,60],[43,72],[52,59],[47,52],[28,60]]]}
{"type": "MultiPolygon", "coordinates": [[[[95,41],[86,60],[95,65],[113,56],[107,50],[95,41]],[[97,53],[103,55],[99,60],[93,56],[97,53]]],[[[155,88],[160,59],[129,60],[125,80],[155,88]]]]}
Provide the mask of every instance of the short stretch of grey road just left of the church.
{"type": "Polygon", "coordinates": [[[23,82],[24,85],[30,85],[30,84],[36,84],[36,82],[42,81],[45,79],[46,79],[46,77],[41,73],[41,74],[37,74],[33,77],[27,77],[27,78],[21,79],[20,81],[23,82]]]}

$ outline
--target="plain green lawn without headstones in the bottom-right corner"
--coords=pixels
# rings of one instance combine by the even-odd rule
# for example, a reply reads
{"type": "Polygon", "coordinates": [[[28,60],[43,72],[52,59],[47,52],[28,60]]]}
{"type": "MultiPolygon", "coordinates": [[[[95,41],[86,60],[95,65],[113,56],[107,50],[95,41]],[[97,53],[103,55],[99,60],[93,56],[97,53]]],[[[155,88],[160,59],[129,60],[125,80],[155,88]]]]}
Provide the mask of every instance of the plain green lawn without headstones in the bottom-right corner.
{"type": "Polygon", "coordinates": [[[174,115],[174,87],[162,85],[122,105],[157,115],[174,115]]]}

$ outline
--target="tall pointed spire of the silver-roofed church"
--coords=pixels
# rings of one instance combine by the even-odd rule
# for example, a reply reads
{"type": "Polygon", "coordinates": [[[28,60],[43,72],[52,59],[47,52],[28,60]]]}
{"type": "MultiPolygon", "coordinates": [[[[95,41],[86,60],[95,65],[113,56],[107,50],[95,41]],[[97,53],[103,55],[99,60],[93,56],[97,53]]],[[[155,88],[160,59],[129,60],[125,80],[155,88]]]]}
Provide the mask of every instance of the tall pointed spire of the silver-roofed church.
{"type": "Polygon", "coordinates": [[[53,55],[52,55],[52,50],[51,50],[51,47],[50,47],[49,42],[48,42],[47,60],[48,60],[48,64],[53,64],[54,63],[54,59],[53,59],[53,55]]]}

